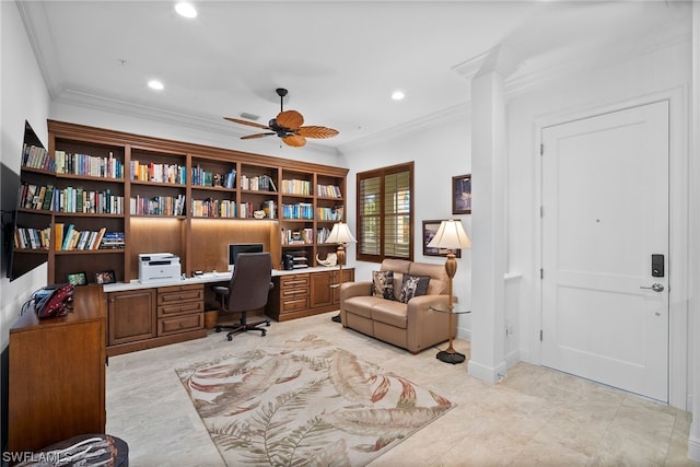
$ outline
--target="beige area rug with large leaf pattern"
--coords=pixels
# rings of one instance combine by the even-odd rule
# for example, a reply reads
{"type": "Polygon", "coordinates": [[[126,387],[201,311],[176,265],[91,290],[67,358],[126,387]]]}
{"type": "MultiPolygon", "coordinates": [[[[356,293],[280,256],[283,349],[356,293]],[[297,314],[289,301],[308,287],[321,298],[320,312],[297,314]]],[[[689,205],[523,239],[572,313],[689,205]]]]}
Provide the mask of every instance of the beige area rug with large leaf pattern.
{"type": "Polygon", "coordinates": [[[452,408],[313,335],[175,371],[231,467],[366,465],[452,408]]]}

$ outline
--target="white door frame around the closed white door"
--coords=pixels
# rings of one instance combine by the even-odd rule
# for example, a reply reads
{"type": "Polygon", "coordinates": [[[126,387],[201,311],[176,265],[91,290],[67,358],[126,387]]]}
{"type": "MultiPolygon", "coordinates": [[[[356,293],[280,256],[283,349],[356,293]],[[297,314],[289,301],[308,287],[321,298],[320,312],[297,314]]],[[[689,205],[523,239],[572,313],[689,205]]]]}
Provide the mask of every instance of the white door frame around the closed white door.
{"type": "MultiPolygon", "coordinates": [[[[574,108],[552,113],[535,119],[535,206],[536,218],[535,252],[533,278],[540,276],[542,267],[542,221],[539,215],[542,205],[542,162],[540,147],[542,130],[598,115],[610,114],[631,107],[668,101],[668,404],[682,410],[690,409],[688,393],[688,301],[689,301],[689,184],[690,173],[688,154],[688,89],[676,87],[660,93],[652,93],[634,98],[599,105],[595,107],[574,108]]],[[[542,328],[542,283],[535,280],[534,307],[529,329],[523,329],[522,348],[530,352],[521,352],[524,360],[541,365],[542,346],[539,331],[542,328]]]]}

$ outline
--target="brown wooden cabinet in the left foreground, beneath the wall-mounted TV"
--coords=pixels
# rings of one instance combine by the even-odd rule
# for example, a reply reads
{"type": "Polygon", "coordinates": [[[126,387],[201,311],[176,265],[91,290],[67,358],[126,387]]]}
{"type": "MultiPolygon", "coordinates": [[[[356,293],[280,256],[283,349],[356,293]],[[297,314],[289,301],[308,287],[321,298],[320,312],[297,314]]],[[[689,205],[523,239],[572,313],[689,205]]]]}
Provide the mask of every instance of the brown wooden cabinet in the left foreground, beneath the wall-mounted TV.
{"type": "Polygon", "coordinates": [[[105,297],[75,288],[73,312],[10,328],[8,451],[36,451],[105,432],[105,297]]]}

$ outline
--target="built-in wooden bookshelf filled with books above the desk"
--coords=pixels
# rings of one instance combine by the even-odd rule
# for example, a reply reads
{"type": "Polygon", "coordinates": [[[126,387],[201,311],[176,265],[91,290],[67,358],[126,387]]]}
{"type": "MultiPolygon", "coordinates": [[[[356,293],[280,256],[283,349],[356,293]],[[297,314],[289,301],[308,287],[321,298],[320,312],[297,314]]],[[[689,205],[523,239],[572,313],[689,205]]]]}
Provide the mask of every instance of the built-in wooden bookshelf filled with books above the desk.
{"type": "Polygon", "coordinates": [[[336,250],[323,236],[345,220],[347,168],[55,120],[48,129],[57,168],[25,166],[22,179],[51,185],[52,201],[22,209],[37,217],[33,227],[49,230],[49,282],[107,270],[128,282],[138,279],[138,255],[159,252],[178,255],[187,275],[225,271],[230,243],[262,243],[280,269],[285,252],[316,266],[316,255],[336,250]],[[69,226],[82,247],[80,238],[59,247],[69,226]],[[101,232],[122,246],[101,247],[101,232]]]}

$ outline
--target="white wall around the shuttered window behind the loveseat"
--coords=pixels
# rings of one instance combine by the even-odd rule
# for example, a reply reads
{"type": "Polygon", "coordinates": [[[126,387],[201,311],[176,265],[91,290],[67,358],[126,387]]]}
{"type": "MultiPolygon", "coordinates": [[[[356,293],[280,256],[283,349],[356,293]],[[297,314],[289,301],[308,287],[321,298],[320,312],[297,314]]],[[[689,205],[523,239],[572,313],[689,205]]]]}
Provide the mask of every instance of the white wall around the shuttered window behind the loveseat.
{"type": "MultiPolygon", "coordinates": [[[[467,90],[468,82],[465,81],[465,95],[467,90]]],[[[423,256],[422,221],[460,219],[465,231],[470,234],[471,217],[452,214],[452,177],[471,172],[470,151],[467,104],[463,109],[451,112],[444,119],[433,121],[430,127],[406,128],[405,131],[396,132],[390,138],[343,147],[342,154],[350,168],[347,184],[350,229],[357,232],[355,174],[413,161],[413,260],[444,264],[443,257],[423,256]]],[[[348,261],[351,265],[354,261],[355,279],[370,280],[372,271],[378,270],[380,265],[355,261],[355,253],[354,246],[348,248],[348,261]]],[[[458,300],[455,311],[467,311],[470,310],[471,304],[471,252],[463,249],[462,258],[457,259],[457,273],[453,282],[454,295],[458,300]]],[[[457,335],[468,339],[469,332],[469,316],[460,315],[457,335]]]]}

